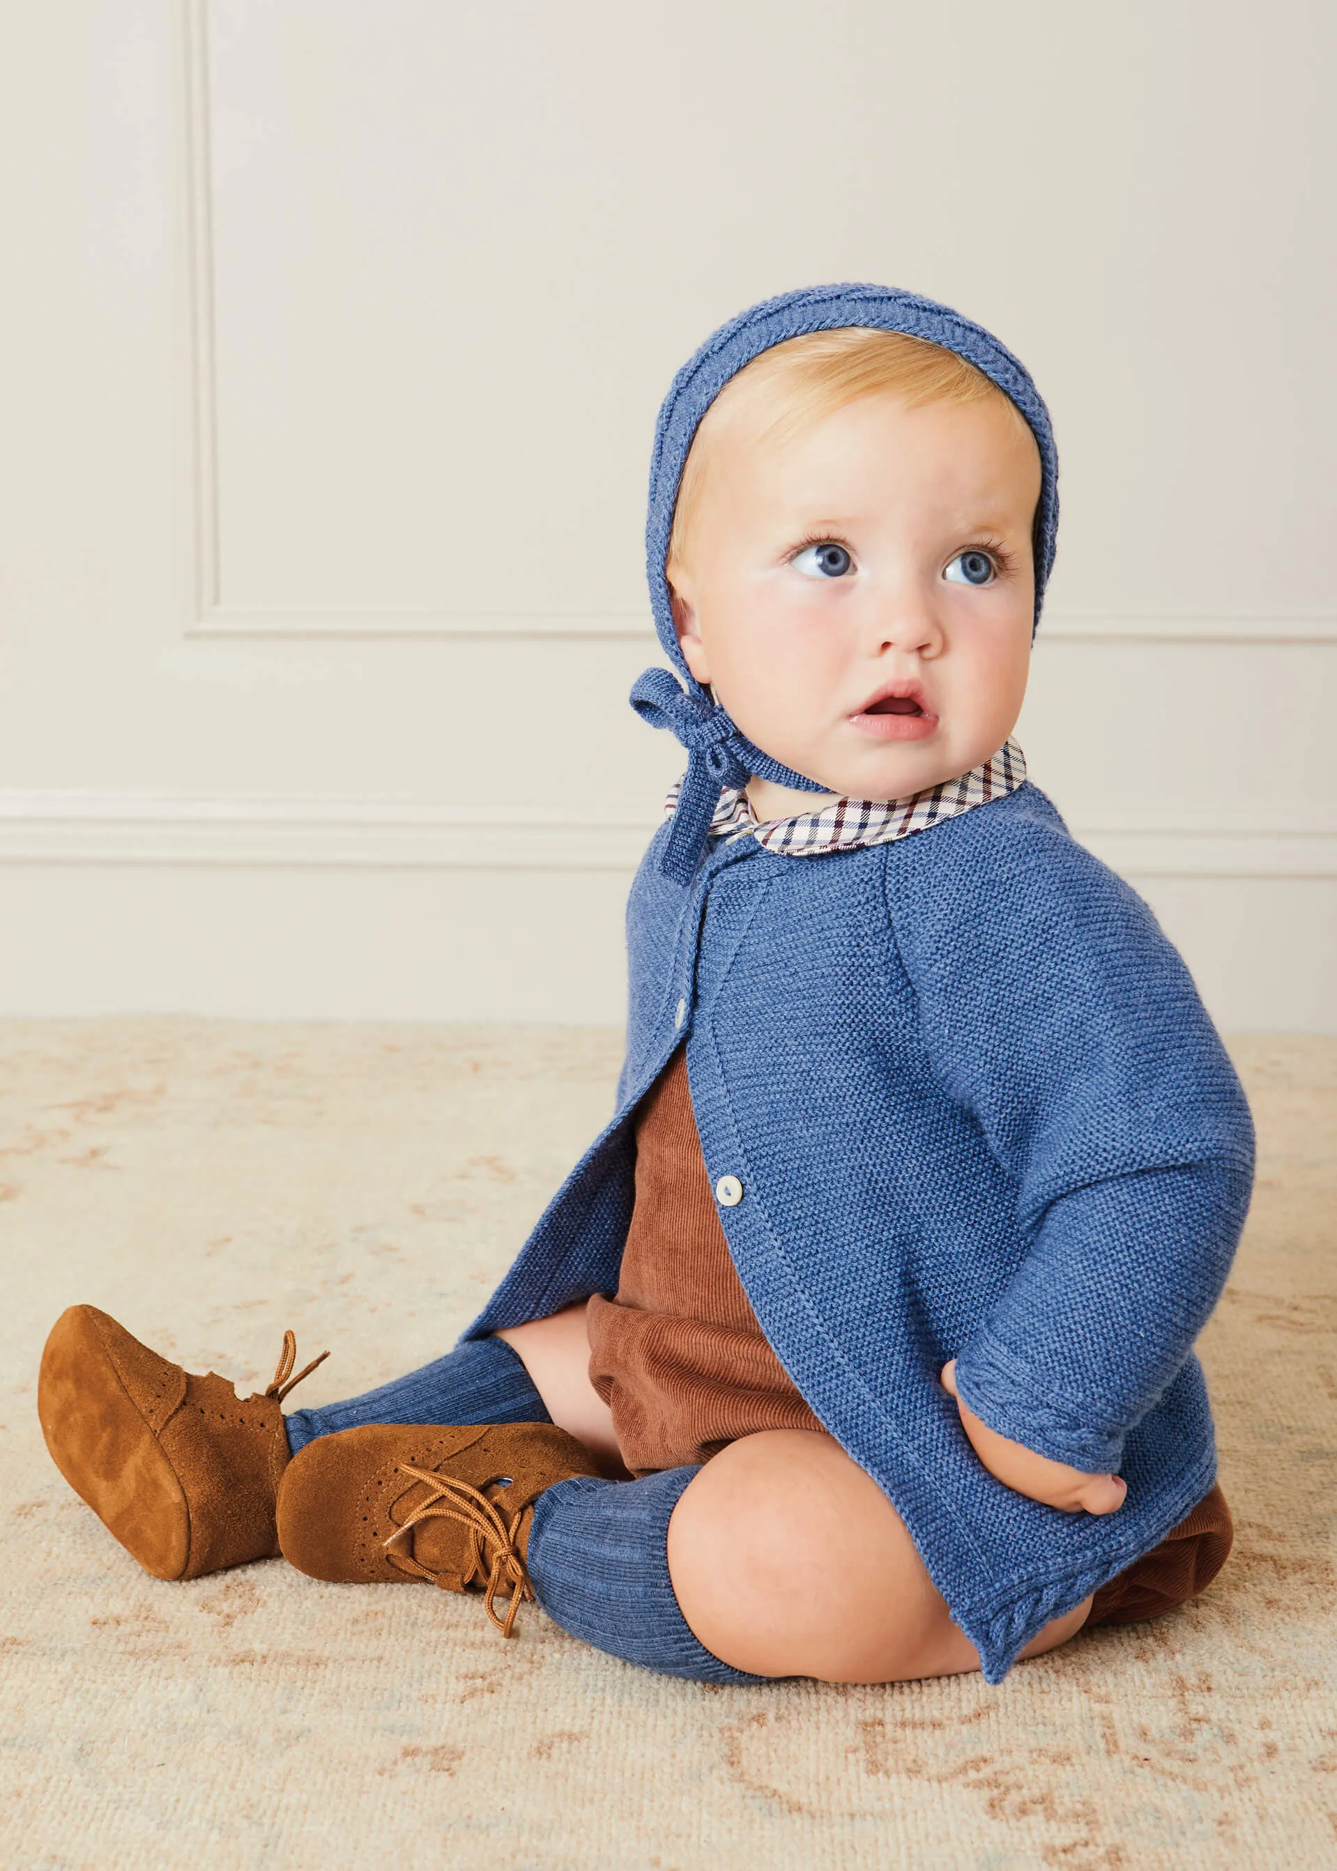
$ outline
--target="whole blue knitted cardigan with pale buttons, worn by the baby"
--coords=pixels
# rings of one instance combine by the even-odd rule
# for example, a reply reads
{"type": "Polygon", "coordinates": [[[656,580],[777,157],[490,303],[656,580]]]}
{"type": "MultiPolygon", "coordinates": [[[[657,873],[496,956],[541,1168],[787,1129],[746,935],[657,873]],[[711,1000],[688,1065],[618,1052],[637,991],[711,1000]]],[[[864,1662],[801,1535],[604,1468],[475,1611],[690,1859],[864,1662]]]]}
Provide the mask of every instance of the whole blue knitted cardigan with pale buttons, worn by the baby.
{"type": "Polygon", "coordinates": [[[618,1111],[466,1336],[616,1293],[637,1102],[678,1044],[747,1298],[884,1487],[1000,1680],[1215,1480],[1193,1340],[1253,1173],[1249,1110],[1142,900],[1030,782],[929,831],[792,863],[717,840],[627,907],[618,1111]],[[683,1003],[678,1023],[678,1001],[683,1003]],[[994,1482],[992,1428],[1129,1484],[1110,1516],[994,1482]]]}

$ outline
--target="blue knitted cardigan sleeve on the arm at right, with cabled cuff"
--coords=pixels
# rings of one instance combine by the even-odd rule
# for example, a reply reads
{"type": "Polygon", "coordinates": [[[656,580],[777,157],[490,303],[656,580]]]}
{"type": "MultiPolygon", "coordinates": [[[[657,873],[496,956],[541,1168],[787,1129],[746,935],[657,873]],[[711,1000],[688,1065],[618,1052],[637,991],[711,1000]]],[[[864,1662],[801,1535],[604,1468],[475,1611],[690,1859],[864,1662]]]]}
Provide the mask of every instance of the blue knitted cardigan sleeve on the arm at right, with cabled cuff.
{"type": "MultiPolygon", "coordinates": [[[[1000,1435],[1110,1472],[1221,1293],[1253,1126],[1146,904],[1056,816],[972,831],[942,876],[888,866],[934,1076],[1013,1182],[1026,1240],[953,1347],[957,1388],[1000,1435]]],[[[931,855],[936,872],[946,840],[931,855]]]]}

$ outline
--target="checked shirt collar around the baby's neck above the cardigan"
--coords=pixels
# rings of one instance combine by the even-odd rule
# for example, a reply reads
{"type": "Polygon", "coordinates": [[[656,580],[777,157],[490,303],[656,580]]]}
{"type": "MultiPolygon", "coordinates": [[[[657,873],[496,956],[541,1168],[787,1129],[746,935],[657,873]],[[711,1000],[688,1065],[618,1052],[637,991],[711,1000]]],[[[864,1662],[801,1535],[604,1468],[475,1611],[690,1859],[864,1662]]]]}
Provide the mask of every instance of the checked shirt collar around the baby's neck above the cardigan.
{"type": "MultiPolygon", "coordinates": [[[[910,833],[927,831],[938,819],[957,818],[972,806],[1015,793],[1026,780],[1026,756],[1007,741],[981,765],[957,780],[931,786],[908,799],[835,799],[816,812],[796,812],[785,819],[758,819],[747,793],[727,788],[710,821],[712,838],[757,838],[779,857],[822,857],[828,851],[856,851],[869,844],[891,844],[910,833]]],[[[682,780],[665,799],[665,818],[678,805],[682,780]]]]}

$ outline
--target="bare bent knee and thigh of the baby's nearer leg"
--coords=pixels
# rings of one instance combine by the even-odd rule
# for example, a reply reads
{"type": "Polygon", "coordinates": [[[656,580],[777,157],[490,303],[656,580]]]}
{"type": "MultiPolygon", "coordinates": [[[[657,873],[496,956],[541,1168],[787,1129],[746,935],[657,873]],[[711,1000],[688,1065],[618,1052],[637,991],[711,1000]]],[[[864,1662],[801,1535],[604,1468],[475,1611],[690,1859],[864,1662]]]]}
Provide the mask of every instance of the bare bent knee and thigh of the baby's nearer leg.
{"type": "MultiPolygon", "coordinates": [[[[723,1448],[668,1521],[682,1615],[758,1676],[903,1682],[979,1669],[882,1489],[830,1435],[768,1429],[723,1448]]],[[[1022,1650],[1073,1637],[1090,1600],[1022,1650]]]]}

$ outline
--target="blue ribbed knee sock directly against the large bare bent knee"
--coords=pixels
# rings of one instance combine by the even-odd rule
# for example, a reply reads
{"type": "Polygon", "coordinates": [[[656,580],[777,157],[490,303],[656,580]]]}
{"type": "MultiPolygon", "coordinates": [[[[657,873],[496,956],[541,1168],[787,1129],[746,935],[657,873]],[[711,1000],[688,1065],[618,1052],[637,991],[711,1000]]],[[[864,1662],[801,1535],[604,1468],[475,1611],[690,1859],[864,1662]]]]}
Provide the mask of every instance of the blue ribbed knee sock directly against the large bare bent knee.
{"type": "Polygon", "coordinates": [[[639,1482],[579,1474],[534,1502],[528,1570],[564,1632],[625,1663],[697,1682],[768,1682],[721,1663],[691,1633],[668,1577],[668,1516],[697,1469],[639,1482]]]}

